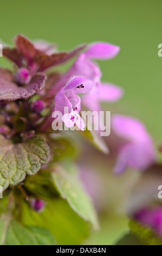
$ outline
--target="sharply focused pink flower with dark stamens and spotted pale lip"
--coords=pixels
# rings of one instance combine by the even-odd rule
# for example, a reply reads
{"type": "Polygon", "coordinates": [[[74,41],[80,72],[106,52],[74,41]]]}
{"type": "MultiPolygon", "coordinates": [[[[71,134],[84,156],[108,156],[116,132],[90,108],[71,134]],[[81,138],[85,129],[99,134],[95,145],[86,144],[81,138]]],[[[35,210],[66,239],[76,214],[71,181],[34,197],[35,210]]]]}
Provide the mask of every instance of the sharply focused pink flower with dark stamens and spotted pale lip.
{"type": "Polygon", "coordinates": [[[93,83],[87,78],[75,76],[55,96],[54,111],[60,111],[64,114],[63,121],[67,127],[72,127],[76,124],[80,130],[84,130],[85,124],[79,115],[80,97],[77,94],[88,93],[92,87],[93,83]],[[68,113],[65,113],[65,107],[67,107],[68,113]]]}

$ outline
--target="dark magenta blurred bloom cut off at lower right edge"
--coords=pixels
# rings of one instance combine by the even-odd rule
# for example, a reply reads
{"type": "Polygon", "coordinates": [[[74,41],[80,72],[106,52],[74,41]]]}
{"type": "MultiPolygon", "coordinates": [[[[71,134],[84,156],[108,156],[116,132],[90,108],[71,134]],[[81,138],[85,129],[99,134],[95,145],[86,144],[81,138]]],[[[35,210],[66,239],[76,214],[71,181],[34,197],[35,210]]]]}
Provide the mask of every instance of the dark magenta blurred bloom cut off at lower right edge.
{"type": "Polygon", "coordinates": [[[136,212],[133,216],[135,220],[141,224],[154,229],[160,236],[162,236],[162,208],[154,209],[143,208],[136,212]]]}

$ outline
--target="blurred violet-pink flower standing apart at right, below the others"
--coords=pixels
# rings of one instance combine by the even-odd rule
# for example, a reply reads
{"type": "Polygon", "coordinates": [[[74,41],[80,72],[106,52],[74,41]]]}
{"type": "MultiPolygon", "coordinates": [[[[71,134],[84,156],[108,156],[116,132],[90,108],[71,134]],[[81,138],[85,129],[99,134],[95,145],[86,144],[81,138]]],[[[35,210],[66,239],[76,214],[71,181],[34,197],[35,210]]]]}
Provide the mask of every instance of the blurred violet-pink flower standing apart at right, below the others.
{"type": "Polygon", "coordinates": [[[116,135],[126,139],[119,149],[115,173],[120,174],[128,167],[138,170],[149,167],[155,160],[155,152],[145,126],[139,120],[123,115],[114,115],[111,124],[116,135]]]}

